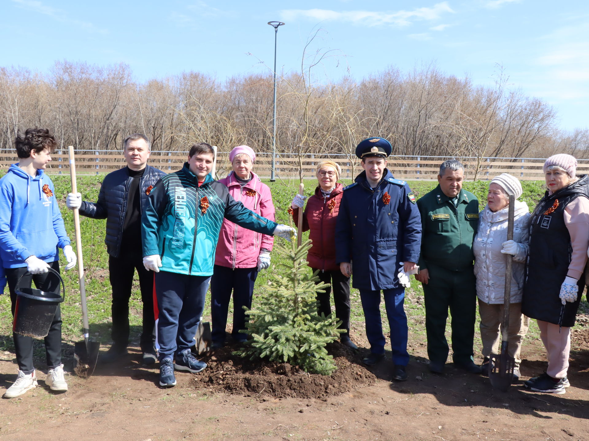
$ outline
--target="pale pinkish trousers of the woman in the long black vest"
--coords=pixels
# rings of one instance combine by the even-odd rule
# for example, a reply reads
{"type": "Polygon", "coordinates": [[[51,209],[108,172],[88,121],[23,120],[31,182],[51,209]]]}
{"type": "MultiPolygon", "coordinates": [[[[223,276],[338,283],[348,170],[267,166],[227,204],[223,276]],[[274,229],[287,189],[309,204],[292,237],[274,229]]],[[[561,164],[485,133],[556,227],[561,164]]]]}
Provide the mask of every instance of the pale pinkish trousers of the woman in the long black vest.
{"type": "Polygon", "coordinates": [[[540,338],[546,348],[548,369],[546,373],[552,378],[567,376],[568,355],[571,352],[571,328],[562,328],[554,323],[536,320],[540,328],[540,338]]]}

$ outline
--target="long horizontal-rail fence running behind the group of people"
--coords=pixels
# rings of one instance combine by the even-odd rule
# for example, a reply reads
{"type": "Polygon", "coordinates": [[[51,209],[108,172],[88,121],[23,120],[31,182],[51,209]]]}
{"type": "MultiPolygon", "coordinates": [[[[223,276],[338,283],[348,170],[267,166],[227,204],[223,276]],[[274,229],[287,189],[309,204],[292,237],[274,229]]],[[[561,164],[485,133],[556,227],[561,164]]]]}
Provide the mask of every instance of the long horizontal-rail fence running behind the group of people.
{"type": "MultiPolygon", "coordinates": [[[[181,168],[187,159],[188,152],[154,151],[151,152],[150,165],[157,167],[164,172],[170,173],[181,168]]],[[[67,150],[57,150],[51,155],[47,173],[65,174],[69,173],[70,162],[67,150]]],[[[342,179],[352,179],[362,171],[360,160],[356,157],[350,158],[342,153],[331,155],[315,155],[306,153],[299,156],[279,154],[276,162],[276,176],[280,179],[299,178],[299,171],[302,168],[303,178],[315,178],[317,163],[329,159],[339,163],[342,168],[342,179]]],[[[449,156],[411,156],[395,155],[388,158],[388,169],[396,178],[401,179],[436,179],[439,165],[449,156]]],[[[522,180],[536,181],[544,179],[542,165],[544,158],[457,158],[465,165],[466,179],[490,180],[494,176],[507,172],[522,180]]],[[[8,168],[12,163],[18,162],[14,150],[0,151],[0,168],[8,168]],[[5,153],[6,152],[6,153],[5,153]]],[[[262,178],[270,176],[272,167],[272,153],[257,153],[254,172],[262,178]]],[[[578,160],[578,171],[589,173],[589,160],[578,160]]],[[[78,150],[76,151],[76,169],[80,175],[101,175],[120,169],[125,165],[121,151],[112,150],[78,150]]],[[[219,152],[217,155],[217,176],[223,177],[229,172],[229,152],[219,152]]]]}

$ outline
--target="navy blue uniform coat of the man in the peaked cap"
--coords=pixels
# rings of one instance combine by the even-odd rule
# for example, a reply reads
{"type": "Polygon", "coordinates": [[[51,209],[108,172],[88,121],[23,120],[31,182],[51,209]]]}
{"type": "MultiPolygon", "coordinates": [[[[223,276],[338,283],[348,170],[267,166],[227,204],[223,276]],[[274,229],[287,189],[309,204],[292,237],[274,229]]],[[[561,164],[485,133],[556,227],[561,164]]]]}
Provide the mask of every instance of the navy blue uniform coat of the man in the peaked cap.
{"type": "Polygon", "coordinates": [[[337,215],[336,262],[353,262],[352,286],[358,289],[398,288],[400,262],[418,262],[421,217],[405,181],[385,173],[370,189],[366,172],[343,191],[337,215]],[[383,196],[388,193],[389,203],[383,196]]]}

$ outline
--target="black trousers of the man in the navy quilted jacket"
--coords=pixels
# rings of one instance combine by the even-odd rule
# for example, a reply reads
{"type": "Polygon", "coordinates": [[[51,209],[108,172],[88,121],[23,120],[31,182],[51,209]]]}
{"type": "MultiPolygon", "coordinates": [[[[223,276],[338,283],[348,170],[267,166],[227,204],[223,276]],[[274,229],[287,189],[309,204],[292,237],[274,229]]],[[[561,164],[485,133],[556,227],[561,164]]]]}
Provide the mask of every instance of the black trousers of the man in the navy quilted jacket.
{"type": "Polygon", "coordinates": [[[113,346],[127,348],[129,344],[129,299],[133,288],[135,269],[139,276],[141,302],[143,302],[143,329],[140,345],[143,352],[155,348],[155,316],[153,309],[153,275],[143,266],[140,256],[108,257],[108,271],[112,286],[112,332],[113,346]]]}

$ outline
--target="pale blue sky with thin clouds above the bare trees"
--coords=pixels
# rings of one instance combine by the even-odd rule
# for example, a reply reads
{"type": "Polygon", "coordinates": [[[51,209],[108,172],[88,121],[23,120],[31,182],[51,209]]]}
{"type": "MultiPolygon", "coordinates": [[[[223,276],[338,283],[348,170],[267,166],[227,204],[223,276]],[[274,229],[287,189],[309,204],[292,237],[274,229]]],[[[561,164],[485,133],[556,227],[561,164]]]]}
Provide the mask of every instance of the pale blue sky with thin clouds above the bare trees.
{"type": "Polygon", "coordinates": [[[589,126],[587,0],[0,0],[0,66],[124,62],[138,81],[262,72],[273,64],[271,20],[286,22],[279,71],[300,67],[319,27],[313,47],[343,54],[317,69],[320,81],[434,61],[491,84],[501,64],[509,83],[557,108],[562,128],[589,126]]]}

